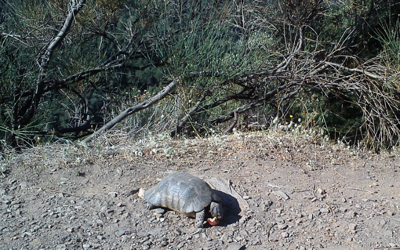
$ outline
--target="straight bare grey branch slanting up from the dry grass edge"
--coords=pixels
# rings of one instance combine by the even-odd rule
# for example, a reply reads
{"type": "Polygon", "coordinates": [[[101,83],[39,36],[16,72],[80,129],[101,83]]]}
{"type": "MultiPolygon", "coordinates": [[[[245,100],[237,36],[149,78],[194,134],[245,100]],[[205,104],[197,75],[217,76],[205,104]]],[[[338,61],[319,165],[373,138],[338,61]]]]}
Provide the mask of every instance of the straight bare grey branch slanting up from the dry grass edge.
{"type": "Polygon", "coordinates": [[[127,116],[131,115],[132,113],[135,113],[137,111],[140,111],[144,108],[147,108],[151,106],[152,104],[156,103],[160,99],[164,98],[165,95],[175,87],[177,80],[171,81],[167,86],[165,86],[161,91],[159,91],[157,94],[149,98],[148,100],[142,101],[139,104],[136,104],[134,106],[128,107],[125,110],[123,110],[120,114],[118,114],[116,117],[114,117],[112,120],[108,121],[105,123],[101,128],[96,130],[94,133],[86,137],[83,141],[84,142],[89,142],[93,138],[97,137],[101,133],[104,133],[108,129],[112,128],[115,124],[126,118],[127,116]]]}

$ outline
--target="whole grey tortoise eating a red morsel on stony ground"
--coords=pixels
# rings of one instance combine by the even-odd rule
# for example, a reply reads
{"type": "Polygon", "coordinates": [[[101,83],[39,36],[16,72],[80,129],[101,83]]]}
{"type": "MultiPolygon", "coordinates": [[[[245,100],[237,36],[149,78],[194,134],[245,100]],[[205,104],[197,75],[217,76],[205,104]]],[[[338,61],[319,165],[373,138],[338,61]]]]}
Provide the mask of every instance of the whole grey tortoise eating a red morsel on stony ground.
{"type": "Polygon", "coordinates": [[[216,225],[222,219],[221,197],[204,180],[185,172],[174,172],[145,190],[146,208],[167,207],[188,217],[195,218],[195,226],[202,227],[206,211],[216,225]]]}

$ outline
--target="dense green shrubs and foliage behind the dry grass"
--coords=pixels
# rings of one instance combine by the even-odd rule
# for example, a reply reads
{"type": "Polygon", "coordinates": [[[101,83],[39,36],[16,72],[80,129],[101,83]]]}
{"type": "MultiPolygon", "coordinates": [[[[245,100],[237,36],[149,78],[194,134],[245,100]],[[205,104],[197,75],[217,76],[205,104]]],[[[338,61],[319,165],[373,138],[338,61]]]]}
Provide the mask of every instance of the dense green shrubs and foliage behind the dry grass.
{"type": "Polygon", "coordinates": [[[365,94],[363,87],[383,93],[375,101],[381,106],[398,96],[400,25],[393,17],[398,3],[243,4],[240,8],[236,1],[88,0],[40,81],[41,58],[62,28],[71,1],[6,1],[0,23],[1,138],[14,141],[14,146],[19,144],[15,137],[30,143],[43,135],[79,138],[124,108],[150,98],[172,79],[179,84],[163,102],[130,116],[121,127],[165,131],[191,112],[183,132],[196,134],[201,129],[225,129],[226,121],[240,111],[237,126],[246,117],[256,117],[268,127],[271,117],[290,120],[292,114],[302,120],[312,116],[312,125],[324,127],[334,140],[377,139],[371,134],[379,132],[368,126],[381,126],[382,134],[390,134],[379,135],[379,140],[396,138],[395,128],[383,129],[385,122],[395,123],[395,110],[388,111],[386,121],[373,114],[366,122],[366,113],[377,110],[370,107],[376,96],[372,91],[365,94]],[[297,51],[299,30],[303,43],[297,51]],[[290,63],[277,70],[285,60],[290,63]],[[324,61],[342,67],[311,75],[324,61]],[[382,64],[389,69],[384,80],[379,78],[384,74],[382,64]],[[359,71],[348,70],[367,67],[379,77],[365,79],[359,71]],[[93,71],[76,76],[87,70],[93,71]],[[357,81],[362,88],[351,85],[357,81]],[[34,103],[31,93],[43,85],[33,115],[21,122],[34,103]],[[278,88],[282,90],[275,93],[278,88]],[[90,127],[62,132],[85,122],[90,127]]]}

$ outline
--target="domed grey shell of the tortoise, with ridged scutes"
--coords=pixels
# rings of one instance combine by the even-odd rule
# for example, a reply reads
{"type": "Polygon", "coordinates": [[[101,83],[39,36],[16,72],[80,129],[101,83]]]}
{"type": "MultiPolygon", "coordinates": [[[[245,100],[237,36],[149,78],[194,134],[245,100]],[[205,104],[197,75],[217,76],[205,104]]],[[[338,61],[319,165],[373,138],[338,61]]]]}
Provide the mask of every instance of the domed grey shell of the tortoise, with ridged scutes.
{"type": "Polygon", "coordinates": [[[193,216],[213,199],[211,187],[202,179],[184,172],[168,175],[144,191],[144,199],[155,206],[193,216]]]}

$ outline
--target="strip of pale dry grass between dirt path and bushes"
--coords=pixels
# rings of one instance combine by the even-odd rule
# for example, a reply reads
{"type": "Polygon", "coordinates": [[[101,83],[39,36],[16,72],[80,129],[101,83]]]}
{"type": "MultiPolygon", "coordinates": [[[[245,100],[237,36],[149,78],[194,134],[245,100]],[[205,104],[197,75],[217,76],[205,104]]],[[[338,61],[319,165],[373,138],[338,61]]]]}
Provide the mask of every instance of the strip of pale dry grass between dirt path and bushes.
{"type": "Polygon", "coordinates": [[[145,137],[133,138],[125,132],[114,131],[89,144],[64,142],[35,146],[3,160],[1,167],[41,169],[62,166],[79,169],[85,164],[101,165],[116,160],[151,167],[159,162],[196,165],[200,162],[215,164],[221,160],[260,158],[293,162],[305,170],[312,170],[324,167],[326,162],[329,165],[340,165],[348,161],[356,162],[355,159],[359,157],[376,155],[344,144],[328,142],[318,131],[234,131],[232,134],[175,140],[167,133],[148,133],[145,137]]]}

